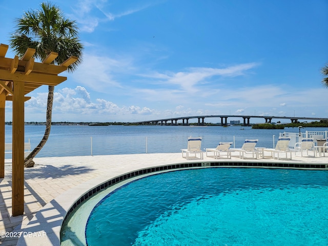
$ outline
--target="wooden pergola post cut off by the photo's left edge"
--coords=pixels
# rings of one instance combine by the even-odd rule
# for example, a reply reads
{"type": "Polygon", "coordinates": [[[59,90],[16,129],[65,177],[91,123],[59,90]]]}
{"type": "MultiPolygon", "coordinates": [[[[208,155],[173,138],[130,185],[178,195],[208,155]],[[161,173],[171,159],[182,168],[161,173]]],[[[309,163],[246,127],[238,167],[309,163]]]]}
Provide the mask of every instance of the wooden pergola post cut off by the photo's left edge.
{"type": "Polygon", "coordinates": [[[5,107],[6,91],[0,93],[0,178],[5,177],[5,107]]]}

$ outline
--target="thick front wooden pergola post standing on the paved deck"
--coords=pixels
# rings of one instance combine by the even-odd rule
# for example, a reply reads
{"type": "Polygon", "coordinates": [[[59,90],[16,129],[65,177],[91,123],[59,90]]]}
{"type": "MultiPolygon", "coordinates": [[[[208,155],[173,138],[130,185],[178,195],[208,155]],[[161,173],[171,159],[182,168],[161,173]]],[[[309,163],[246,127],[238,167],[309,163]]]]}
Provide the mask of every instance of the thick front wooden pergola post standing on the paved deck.
{"type": "Polygon", "coordinates": [[[24,214],[24,82],[13,81],[12,215],[24,214]]]}

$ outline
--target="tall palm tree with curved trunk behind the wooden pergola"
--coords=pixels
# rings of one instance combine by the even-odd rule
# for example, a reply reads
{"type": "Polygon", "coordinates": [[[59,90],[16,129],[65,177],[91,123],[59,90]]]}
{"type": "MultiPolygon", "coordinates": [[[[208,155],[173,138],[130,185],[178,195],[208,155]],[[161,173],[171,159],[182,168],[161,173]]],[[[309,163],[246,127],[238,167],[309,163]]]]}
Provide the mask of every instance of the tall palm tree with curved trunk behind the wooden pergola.
{"type": "MultiPolygon", "coordinates": [[[[11,34],[10,46],[17,55],[23,56],[27,48],[36,50],[34,56],[44,60],[51,52],[57,52],[54,64],[63,63],[70,56],[77,56],[78,60],[68,67],[72,72],[81,62],[84,49],[78,39],[78,28],[75,21],[63,16],[60,9],[50,2],[42,3],[39,10],[25,12],[22,18],[15,19],[17,29],[11,34]]],[[[51,129],[51,114],[54,86],[49,86],[46,130],[38,146],[25,159],[25,166],[34,166],[33,158],[46,144],[51,129]]]]}

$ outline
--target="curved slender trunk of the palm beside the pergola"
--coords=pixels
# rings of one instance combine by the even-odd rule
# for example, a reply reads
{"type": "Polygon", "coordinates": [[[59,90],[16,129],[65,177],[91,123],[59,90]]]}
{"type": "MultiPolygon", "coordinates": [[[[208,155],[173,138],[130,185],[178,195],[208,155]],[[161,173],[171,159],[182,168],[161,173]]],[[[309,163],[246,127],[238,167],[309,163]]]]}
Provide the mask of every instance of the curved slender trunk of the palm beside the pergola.
{"type": "Polygon", "coordinates": [[[53,104],[53,92],[55,87],[49,86],[48,100],[47,100],[47,116],[46,116],[46,130],[42,140],[35,147],[35,149],[25,158],[25,167],[33,167],[33,158],[39,153],[39,151],[45,146],[51,129],[51,115],[52,115],[52,104],[53,104]]]}

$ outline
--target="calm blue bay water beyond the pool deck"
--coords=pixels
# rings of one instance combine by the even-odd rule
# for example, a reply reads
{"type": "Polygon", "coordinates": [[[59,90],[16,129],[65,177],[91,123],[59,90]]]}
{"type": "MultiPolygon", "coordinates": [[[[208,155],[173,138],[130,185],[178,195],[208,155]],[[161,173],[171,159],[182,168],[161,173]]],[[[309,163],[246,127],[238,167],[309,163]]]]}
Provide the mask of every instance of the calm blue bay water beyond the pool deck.
{"type": "MultiPolygon", "coordinates": [[[[302,131],[327,131],[328,128],[303,128],[302,131]]],[[[25,142],[31,150],[43,138],[45,126],[26,125],[25,142]]],[[[259,139],[257,147],[273,148],[279,133],[299,132],[298,128],[284,130],[252,129],[240,126],[86,126],[53,125],[49,139],[37,157],[116,155],[139,153],[177,153],[186,149],[188,137],[202,137],[202,148],[216,148],[218,143],[234,141],[240,148],[245,139],[259,139]]],[[[6,142],[12,142],[12,126],[6,125],[6,142]]],[[[11,154],[6,154],[11,158],[11,154]]]]}

